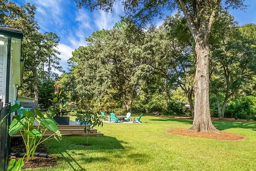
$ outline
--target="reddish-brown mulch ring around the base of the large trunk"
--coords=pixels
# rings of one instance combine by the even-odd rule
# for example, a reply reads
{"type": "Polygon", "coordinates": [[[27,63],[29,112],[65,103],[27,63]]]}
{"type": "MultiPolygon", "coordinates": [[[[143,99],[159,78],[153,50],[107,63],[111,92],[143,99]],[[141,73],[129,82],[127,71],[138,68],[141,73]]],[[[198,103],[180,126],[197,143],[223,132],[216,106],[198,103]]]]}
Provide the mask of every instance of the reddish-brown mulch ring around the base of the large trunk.
{"type": "Polygon", "coordinates": [[[202,137],[206,139],[218,139],[218,140],[244,140],[245,137],[240,134],[235,133],[228,133],[228,132],[195,132],[195,131],[188,131],[188,129],[184,128],[170,128],[166,129],[167,133],[170,134],[178,134],[183,136],[194,136],[194,137],[202,137]]]}

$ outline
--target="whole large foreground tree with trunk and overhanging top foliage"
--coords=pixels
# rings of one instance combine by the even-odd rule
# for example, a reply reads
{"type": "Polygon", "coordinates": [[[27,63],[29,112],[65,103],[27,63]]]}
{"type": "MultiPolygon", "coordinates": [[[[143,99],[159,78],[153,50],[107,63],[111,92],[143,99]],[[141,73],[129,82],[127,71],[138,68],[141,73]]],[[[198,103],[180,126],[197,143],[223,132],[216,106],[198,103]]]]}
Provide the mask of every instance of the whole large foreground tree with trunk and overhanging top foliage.
{"type": "MultiPolygon", "coordinates": [[[[115,0],[75,0],[78,7],[90,10],[112,11],[115,0]]],[[[187,26],[195,41],[197,56],[194,79],[195,115],[192,131],[218,132],[210,117],[209,105],[209,35],[215,15],[221,8],[243,7],[243,0],[123,0],[126,17],[138,25],[153,21],[154,17],[163,17],[167,11],[179,9],[185,15],[187,26]]]]}

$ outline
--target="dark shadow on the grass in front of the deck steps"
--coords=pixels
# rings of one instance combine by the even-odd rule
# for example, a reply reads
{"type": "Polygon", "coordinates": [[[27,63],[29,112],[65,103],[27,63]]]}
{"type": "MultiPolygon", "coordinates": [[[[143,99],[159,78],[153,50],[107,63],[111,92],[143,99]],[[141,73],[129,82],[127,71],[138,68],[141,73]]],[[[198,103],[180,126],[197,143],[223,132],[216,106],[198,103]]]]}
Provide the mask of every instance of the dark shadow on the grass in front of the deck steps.
{"type": "Polygon", "coordinates": [[[86,136],[63,136],[61,143],[47,144],[49,149],[52,150],[52,154],[60,154],[61,157],[58,160],[67,162],[70,168],[74,171],[86,170],[81,166],[83,162],[109,162],[106,157],[84,157],[86,152],[90,153],[91,150],[97,150],[99,152],[110,152],[113,150],[124,150],[122,141],[118,141],[115,137],[102,136],[102,137],[89,137],[90,146],[83,145],[86,143],[86,136]],[[76,160],[73,155],[81,156],[82,159],[76,160]]]}

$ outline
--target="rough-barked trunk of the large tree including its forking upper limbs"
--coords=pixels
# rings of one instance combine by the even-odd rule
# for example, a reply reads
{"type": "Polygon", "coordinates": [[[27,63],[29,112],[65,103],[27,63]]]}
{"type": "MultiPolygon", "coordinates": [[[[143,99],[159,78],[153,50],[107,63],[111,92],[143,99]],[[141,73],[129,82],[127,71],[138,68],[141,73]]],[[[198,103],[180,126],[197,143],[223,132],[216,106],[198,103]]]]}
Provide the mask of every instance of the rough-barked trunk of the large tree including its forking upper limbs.
{"type": "Polygon", "coordinates": [[[195,10],[191,12],[183,0],[175,0],[183,11],[187,26],[195,40],[196,75],[194,79],[194,121],[189,131],[219,132],[210,116],[209,104],[209,35],[214,21],[215,13],[220,0],[209,1],[212,7],[201,2],[195,3],[195,10]],[[197,4],[198,3],[198,4],[197,4]],[[205,6],[206,5],[206,6],[205,6]],[[197,9],[197,7],[199,7],[197,9]]]}

